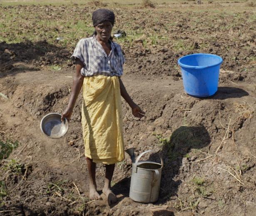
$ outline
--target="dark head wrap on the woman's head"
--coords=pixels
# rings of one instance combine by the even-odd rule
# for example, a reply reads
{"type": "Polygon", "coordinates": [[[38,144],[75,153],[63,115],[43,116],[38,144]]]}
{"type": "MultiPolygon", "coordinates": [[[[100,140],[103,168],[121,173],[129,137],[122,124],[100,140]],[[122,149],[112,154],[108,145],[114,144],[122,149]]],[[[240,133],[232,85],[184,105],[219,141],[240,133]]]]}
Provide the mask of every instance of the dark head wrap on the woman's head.
{"type": "Polygon", "coordinates": [[[108,9],[98,9],[92,13],[93,26],[99,25],[99,23],[109,21],[114,25],[114,13],[108,9]]]}

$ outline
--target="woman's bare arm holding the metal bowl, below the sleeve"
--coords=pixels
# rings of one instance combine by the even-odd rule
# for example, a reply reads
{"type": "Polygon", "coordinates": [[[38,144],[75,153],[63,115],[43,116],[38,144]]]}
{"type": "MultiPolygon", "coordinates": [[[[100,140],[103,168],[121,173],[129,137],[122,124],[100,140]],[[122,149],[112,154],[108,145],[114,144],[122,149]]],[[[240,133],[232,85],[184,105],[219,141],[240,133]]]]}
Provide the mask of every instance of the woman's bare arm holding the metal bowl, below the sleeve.
{"type": "Polygon", "coordinates": [[[84,65],[83,65],[82,61],[80,61],[79,59],[76,59],[76,72],[75,72],[75,76],[73,79],[71,95],[70,95],[70,99],[69,99],[67,108],[62,113],[61,120],[63,120],[64,117],[67,118],[68,120],[70,120],[70,118],[71,118],[73,108],[74,108],[75,102],[77,100],[77,96],[79,95],[79,93],[81,91],[83,81],[84,81],[84,76],[82,76],[82,74],[80,73],[80,71],[83,67],[84,67],[84,65]]]}

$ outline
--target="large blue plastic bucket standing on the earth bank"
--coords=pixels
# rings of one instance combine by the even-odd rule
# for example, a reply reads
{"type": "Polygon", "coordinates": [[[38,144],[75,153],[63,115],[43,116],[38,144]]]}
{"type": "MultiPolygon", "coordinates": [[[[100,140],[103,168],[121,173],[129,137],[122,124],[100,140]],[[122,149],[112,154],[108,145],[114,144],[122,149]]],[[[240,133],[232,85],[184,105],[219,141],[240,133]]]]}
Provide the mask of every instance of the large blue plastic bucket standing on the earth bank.
{"type": "Polygon", "coordinates": [[[178,60],[183,85],[191,96],[209,97],[218,90],[219,69],[222,58],[213,54],[191,54],[178,60]]]}

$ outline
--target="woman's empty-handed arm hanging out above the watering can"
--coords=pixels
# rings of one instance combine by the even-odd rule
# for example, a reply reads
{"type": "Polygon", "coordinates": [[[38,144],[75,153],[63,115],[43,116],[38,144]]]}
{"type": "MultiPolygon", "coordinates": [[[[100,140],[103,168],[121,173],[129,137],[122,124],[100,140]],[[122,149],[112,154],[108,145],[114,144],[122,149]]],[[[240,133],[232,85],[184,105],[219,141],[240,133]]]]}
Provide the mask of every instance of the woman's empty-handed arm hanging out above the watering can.
{"type": "Polygon", "coordinates": [[[132,114],[137,118],[142,118],[144,116],[144,112],[139,108],[139,106],[133,102],[132,98],[127,93],[124,83],[122,82],[121,78],[119,77],[119,83],[120,83],[120,93],[121,96],[124,98],[124,100],[129,104],[129,106],[132,108],[132,114]]]}

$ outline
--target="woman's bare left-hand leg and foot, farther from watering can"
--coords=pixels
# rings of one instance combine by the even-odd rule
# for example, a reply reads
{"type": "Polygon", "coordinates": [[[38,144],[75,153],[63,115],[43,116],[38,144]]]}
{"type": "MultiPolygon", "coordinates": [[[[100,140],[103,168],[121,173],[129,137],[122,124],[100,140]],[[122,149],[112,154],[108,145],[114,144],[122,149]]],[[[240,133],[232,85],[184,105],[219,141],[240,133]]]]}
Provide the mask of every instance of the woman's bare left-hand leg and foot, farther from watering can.
{"type": "Polygon", "coordinates": [[[96,163],[92,162],[92,159],[88,157],[86,157],[86,162],[87,162],[87,168],[89,172],[89,181],[90,181],[90,186],[89,186],[90,200],[100,199],[101,197],[97,192],[97,184],[95,179],[96,163]]]}

